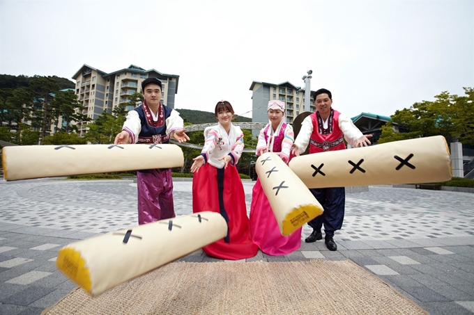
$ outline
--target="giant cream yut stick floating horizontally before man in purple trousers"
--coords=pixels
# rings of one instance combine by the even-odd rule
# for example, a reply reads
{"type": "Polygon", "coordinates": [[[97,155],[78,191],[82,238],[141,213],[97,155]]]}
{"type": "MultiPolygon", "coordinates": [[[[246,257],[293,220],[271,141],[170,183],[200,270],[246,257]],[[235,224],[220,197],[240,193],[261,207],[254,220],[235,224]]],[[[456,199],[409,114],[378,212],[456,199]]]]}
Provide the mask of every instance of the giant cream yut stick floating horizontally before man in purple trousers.
{"type": "Polygon", "coordinates": [[[184,163],[177,145],[19,145],[3,147],[6,180],[175,168],[184,163]]]}

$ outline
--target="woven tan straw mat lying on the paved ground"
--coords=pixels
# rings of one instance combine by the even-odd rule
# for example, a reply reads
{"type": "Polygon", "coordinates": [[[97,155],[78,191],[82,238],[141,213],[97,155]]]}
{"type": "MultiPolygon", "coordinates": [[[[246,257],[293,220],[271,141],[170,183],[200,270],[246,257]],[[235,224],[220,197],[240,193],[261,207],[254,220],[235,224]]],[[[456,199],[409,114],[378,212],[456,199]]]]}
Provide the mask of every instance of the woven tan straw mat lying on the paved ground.
{"type": "Polygon", "coordinates": [[[176,262],[43,314],[427,314],[352,261],[176,262]]]}

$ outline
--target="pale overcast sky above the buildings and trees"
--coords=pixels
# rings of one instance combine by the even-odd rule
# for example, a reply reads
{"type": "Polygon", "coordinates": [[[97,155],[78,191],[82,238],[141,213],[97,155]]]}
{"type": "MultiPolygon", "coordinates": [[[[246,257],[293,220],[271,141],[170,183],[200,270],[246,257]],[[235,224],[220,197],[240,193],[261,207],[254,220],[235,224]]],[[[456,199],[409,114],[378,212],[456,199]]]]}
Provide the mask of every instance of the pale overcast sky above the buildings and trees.
{"type": "Polygon", "coordinates": [[[474,87],[474,1],[0,0],[0,74],[84,64],[178,74],[175,108],[247,117],[252,81],[303,88],[312,70],[338,111],[392,115],[474,87]]]}

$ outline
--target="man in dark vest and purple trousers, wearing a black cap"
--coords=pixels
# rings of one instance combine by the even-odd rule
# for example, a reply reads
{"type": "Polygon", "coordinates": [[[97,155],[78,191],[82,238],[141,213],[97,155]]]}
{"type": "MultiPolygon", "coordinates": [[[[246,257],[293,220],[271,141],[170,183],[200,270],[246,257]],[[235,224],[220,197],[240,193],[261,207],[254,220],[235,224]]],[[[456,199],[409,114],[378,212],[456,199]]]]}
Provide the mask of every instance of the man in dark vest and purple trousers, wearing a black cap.
{"type": "MultiPolygon", "coordinates": [[[[169,143],[170,138],[180,143],[189,140],[179,113],[161,103],[161,89],[158,78],[148,78],[142,82],[144,102],[128,112],[114,144],[169,143]]],[[[171,169],[138,170],[137,191],[139,225],[176,216],[171,169]]]]}

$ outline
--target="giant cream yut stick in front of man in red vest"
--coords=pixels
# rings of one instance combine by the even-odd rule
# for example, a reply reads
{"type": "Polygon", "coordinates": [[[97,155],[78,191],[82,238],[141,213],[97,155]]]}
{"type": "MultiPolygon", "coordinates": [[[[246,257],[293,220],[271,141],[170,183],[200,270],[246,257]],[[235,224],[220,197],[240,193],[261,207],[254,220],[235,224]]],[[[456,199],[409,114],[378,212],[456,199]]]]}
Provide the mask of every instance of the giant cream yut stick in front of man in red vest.
{"type": "Polygon", "coordinates": [[[308,188],[427,183],[452,177],[443,136],[297,156],[289,167],[308,188]]]}

